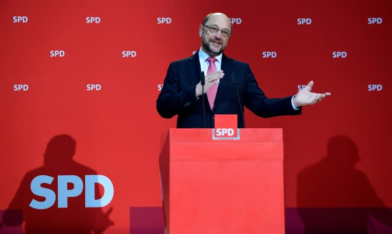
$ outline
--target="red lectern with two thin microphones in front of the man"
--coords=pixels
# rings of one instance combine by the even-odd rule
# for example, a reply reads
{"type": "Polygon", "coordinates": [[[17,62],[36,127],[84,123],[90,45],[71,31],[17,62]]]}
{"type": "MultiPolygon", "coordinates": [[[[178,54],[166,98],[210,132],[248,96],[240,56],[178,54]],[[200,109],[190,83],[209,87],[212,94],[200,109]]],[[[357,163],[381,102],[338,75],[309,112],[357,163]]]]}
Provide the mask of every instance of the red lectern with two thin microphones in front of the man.
{"type": "Polygon", "coordinates": [[[170,129],[160,155],[165,233],[284,233],[282,129],[170,129]]]}

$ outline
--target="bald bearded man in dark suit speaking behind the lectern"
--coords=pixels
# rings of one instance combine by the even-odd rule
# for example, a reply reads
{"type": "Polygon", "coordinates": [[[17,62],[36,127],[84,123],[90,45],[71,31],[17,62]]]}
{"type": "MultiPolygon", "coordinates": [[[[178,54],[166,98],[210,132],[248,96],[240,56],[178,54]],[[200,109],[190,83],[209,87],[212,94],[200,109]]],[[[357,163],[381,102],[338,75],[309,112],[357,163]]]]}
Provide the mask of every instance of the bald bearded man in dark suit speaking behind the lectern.
{"type": "Polygon", "coordinates": [[[315,104],[331,95],[329,92],[310,92],[313,86],[310,81],[295,96],[267,99],[250,66],[223,54],[231,33],[231,21],[225,14],[208,14],[199,28],[202,45],[198,53],[170,63],[157,110],[163,118],[177,114],[177,128],[213,128],[215,114],[237,114],[238,127],[243,128],[243,105],[264,118],[296,115],[301,114],[302,106],[315,104]],[[202,71],[207,74],[204,90],[202,71]]]}

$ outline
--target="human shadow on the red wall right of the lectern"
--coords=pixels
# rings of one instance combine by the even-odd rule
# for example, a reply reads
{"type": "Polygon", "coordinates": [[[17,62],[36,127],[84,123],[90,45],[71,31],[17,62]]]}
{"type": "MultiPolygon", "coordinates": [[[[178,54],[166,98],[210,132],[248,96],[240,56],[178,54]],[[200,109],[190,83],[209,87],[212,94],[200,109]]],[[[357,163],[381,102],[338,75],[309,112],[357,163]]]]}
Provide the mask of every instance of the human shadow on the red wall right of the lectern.
{"type": "Polygon", "coordinates": [[[328,155],[298,175],[298,213],[305,234],[372,233],[370,216],[392,227],[392,211],[377,196],[366,175],[355,169],[360,160],[354,141],[332,137],[328,155]]]}

